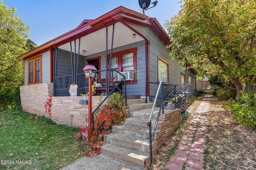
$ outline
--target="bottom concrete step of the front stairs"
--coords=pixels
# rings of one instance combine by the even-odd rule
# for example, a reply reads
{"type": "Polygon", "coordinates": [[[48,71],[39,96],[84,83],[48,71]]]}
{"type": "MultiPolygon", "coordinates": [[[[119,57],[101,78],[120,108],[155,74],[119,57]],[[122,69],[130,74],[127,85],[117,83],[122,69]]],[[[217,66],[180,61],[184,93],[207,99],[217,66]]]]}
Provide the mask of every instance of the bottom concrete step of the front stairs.
{"type": "Polygon", "coordinates": [[[128,149],[113,144],[104,144],[101,148],[101,153],[112,158],[117,158],[129,164],[140,166],[142,168],[144,168],[145,162],[149,157],[149,153],[128,149]]]}

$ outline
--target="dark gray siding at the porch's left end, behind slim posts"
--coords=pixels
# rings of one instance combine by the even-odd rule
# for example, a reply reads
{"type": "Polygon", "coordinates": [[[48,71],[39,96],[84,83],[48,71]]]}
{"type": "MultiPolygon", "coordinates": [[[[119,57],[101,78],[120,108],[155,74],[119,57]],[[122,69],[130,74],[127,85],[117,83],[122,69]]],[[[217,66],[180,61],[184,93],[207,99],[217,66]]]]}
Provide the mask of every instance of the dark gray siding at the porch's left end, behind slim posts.
{"type": "MultiPolygon", "coordinates": [[[[77,60],[77,55],[76,54],[76,60],[77,60]]],[[[74,53],[72,53],[73,57],[73,64],[74,64],[74,53]]],[[[56,62],[56,57],[54,58],[54,62],[56,62]]],[[[76,61],[77,65],[77,61],[76,61]]],[[[85,65],[85,60],[83,55],[79,55],[79,63],[78,63],[78,73],[83,73],[83,68],[85,65]]],[[[55,69],[55,65],[54,65],[55,69]]],[[[57,69],[56,69],[56,77],[61,77],[61,76],[67,76],[67,75],[72,75],[72,65],[71,65],[71,56],[70,56],[70,51],[66,51],[63,49],[58,49],[58,57],[57,57],[57,69]]],[[[68,86],[67,88],[70,87],[70,85],[73,83],[72,76],[68,77],[68,86]]],[[[62,84],[62,89],[65,89],[65,84],[66,80],[65,78],[62,78],[62,83],[61,79],[56,79],[56,89],[61,89],[60,84],[62,84]]],[[[78,87],[86,87],[85,85],[85,79],[84,75],[78,75],[78,87]]],[[[85,89],[78,89],[77,90],[77,95],[79,94],[85,94],[86,91],[85,89]]],[[[69,96],[69,90],[56,90],[55,96],[69,96]]]]}

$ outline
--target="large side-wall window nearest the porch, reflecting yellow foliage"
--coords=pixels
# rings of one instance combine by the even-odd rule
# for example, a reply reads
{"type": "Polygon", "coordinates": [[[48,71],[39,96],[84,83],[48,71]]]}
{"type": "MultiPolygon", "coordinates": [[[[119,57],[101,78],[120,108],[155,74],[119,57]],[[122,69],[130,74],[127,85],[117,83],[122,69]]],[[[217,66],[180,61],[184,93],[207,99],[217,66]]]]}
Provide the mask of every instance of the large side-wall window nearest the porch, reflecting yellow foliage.
{"type": "Polygon", "coordinates": [[[169,65],[166,61],[158,57],[158,81],[168,82],[169,65]]]}

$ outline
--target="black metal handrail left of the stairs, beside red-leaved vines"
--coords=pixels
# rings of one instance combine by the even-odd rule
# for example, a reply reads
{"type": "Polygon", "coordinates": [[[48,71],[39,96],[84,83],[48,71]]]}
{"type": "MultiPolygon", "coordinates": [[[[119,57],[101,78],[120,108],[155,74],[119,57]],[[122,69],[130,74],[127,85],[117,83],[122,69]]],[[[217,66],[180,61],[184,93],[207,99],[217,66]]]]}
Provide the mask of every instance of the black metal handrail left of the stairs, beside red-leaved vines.
{"type": "MultiPolygon", "coordinates": [[[[110,71],[112,71],[112,75],[113,75],[113,71],[116,71],[116,70],[110,70],[110,71]]],[[[124,93],[124,95],[123,95],[123,97],[122,97],[122,99],[121,99],[121,101],[125,98],[125,105],[127,105],[127,94],[126,94],[126,77],[123,75],[123,74],[121,74],[120,72],[118,72],[118,71],[116,71],[118,74],[120,74],[123,78],[117,83],[117,85],[115,85],[114,86],[114,88],[110,91],[110,93],[108,93],[108,95],[102,100],[102,102],[96,107],[96,109],[94,109],[94,111],[92,112],[92,130],[94,130],[94,113],[101,107],[101,105],[106,101],[106,99],[108,99],[108,97],[110,96],[110,95],[112,95],[112,93],[113,93],[113,91],[115,90],[115,89],[119,89],[118,88],[118,85],[120,85],[120,83],[122,83],[122,81],[124,80],[124,92],[122,91],[122,90],[120,90],[121,91],[121,93],[124,93]]],[[[113,77],[112,77],[112,79],[113,79],[113,77]]],[[[115,107],[116,108],[116,107],[115,107]]],[[[99,130],[101,127],[102,127],[102,125],[104,125],[104,123],[105,123],[105,121],[103,121],[101,124],[100,124],[100,126],[97,128],[97,130],[99,130]]]]}

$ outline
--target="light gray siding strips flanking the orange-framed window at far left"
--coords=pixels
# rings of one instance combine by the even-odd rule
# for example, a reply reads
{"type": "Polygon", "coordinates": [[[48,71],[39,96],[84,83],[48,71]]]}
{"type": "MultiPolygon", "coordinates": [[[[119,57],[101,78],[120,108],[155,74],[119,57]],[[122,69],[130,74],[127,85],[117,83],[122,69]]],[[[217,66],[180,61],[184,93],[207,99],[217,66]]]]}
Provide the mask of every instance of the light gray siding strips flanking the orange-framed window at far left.
{"type": "MultiPolygon", "coordinates": [[[[50,51],[42,53],[42,83],[50,83],[50,51]]],[[[28,59],[24,61],[24,85],[28,85],[28,59]]]]}

